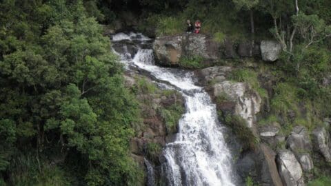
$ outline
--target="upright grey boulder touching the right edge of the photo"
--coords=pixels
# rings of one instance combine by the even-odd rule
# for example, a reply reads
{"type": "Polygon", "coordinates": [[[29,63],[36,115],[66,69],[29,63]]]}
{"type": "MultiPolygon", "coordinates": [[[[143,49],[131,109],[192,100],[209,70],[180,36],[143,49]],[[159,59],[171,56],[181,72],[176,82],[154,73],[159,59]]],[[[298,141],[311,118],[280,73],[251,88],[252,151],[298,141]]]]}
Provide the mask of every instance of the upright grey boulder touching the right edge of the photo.
{"type": "Polygon", "coordinates": [[[331,162],[330,137],[324,127],[317,127],[312,131],[314,149],[321,153],[325,161],[331,162]]]}

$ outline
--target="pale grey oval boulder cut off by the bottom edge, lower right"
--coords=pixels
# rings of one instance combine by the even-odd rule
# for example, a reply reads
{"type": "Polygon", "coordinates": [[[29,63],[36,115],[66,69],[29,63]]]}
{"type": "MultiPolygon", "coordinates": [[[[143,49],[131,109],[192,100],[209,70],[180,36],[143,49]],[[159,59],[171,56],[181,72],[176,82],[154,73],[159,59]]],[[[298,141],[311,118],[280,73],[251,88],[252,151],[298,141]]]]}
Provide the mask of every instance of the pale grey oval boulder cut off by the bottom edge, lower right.
{"type": "Polygon", "coordinates": [[[301,165],[290,150],[286,149],[279,152],[277,166],[284,185],[304,185],[301,165]]]}

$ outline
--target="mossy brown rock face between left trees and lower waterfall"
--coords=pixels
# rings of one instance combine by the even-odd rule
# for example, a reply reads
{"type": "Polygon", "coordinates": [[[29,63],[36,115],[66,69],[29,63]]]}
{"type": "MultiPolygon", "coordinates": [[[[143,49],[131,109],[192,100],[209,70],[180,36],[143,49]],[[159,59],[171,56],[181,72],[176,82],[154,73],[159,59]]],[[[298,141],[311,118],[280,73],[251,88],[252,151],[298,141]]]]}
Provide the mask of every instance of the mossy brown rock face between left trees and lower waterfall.
{"type": "Polygon", "coordinates": [[[154,185],[161,179],[162,148],[177,133],[184,111],[183,96],[175,90],[161,90],[148,76],[128,72],[125,78],[141,108],[137,134],[130,141],[131,156],[144,167],[146,183],[152,181],[150,185],[154,185]]]}

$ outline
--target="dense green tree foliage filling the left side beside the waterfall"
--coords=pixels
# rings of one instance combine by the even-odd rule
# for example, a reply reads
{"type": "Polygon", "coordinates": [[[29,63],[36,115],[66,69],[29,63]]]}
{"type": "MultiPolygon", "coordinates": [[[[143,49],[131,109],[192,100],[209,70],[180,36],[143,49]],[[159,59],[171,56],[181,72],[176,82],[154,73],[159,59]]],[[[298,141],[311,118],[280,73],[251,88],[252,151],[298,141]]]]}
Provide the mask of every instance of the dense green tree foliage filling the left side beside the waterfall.
{"type": "Polygon", "coordinates": [[[91,3],[1,1],[1,182],[135,185],[141,177],[128,152],[137,102],[91,3]]]}

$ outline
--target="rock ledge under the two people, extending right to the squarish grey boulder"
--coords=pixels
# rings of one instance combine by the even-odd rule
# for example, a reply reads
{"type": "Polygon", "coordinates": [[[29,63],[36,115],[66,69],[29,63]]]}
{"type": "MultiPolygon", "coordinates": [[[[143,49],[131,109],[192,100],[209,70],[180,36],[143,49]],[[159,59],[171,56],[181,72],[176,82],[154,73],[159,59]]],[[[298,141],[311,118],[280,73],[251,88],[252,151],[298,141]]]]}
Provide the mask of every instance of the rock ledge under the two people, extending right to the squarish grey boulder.
{"type": "Polygon", "coordinates": [[[278,43],[273,41],[265,41],[260,50],[259,44],[249,41],[237,43],[231,39],[225,39],[219,43],[206,34],[178,34],[157,37],[153,49],[157,63],[165,66],[176,66],[179,65],[182,56],[200,56],[203,58],[203,63],[210,64],[220,59],[261,57],[261,52],[264,52],[265,57],[263,59],[274,61],[278,59],[280,53],[278,46],[278,43]]]}

